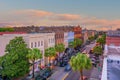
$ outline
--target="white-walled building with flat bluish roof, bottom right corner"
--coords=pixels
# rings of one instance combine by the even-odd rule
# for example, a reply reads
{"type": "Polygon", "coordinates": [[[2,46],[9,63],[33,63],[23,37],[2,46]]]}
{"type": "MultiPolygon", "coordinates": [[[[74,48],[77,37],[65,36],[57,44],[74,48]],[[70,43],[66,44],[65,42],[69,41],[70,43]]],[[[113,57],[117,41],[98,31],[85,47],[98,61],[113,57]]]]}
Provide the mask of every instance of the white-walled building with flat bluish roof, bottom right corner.
{"type": "Polygon", "coordinates": [[[120,80],[120,46],[105,45],[101,80],[120,80]]]}

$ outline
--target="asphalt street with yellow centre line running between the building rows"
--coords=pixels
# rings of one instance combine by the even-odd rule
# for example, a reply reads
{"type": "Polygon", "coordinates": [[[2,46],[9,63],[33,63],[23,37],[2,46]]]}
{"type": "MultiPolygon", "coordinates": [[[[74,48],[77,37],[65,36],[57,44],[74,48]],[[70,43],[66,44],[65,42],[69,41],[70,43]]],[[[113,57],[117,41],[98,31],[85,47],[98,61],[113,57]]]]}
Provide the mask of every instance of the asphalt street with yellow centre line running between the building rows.
{"type": "MultiPolygon", "coordinates": [[[[82,53],[89,53],[89,51],[95,46],[96,43],[89,44],[85,46],[85,50],[82,53]]],[[[84,70],[84,75],[90,77],[91,70],[84,70]]],[[[79,80],[80,73],[75,71],[65,72],[64,67],[57,67],[55,73],[49,78],[53,80],[79,80]]],[[[48,80],[49,80],[48,79],[48,80]]]]}

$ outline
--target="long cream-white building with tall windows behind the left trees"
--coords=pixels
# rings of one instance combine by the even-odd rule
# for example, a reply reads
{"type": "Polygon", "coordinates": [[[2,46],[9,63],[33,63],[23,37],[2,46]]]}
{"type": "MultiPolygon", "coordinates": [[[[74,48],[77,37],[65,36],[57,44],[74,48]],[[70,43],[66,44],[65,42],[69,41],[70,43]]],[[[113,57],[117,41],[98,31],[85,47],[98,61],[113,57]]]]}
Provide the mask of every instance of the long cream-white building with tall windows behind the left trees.
{"type": "Polygon", "coordinates": [[[38,48],[42,53],[41,64],[45,64],[45,48],[55,46],[55,33],[34,33],[34,34],[2,34],[0,35],[0,56],[5,54],[6,45],[15,37],[22,36],[28,48],[38,48]]]}

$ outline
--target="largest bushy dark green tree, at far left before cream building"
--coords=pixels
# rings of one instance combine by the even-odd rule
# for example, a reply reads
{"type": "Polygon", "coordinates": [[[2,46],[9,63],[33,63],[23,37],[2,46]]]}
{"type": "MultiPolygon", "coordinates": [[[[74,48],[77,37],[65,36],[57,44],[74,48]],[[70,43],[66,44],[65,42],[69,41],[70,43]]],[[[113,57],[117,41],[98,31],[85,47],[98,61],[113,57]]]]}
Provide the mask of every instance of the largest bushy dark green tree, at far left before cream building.
{"type": "Polygon", "coordinates": [[[26,57],[28,48],[22,37],[15,37],[6,46],[6,54],[1,57],[1,74],[9,78],[18,78],[29,72],[29,61],[26,57]]]}

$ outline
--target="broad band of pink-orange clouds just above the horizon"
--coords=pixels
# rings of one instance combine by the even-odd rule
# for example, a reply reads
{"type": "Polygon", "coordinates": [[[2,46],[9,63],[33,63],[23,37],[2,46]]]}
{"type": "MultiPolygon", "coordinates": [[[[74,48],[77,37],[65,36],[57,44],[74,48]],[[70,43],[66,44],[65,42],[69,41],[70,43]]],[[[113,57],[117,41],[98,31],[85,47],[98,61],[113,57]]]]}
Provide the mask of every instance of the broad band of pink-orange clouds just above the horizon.
{"type": "Polygon", "coordinates": [[[83,25],[89,29],[107,30],[120,27],[120,20],[98,19],[94,16],[85,17],[78,14],[53,13],[43,10],[17,10],[2,15],[0,26],[26,26],[26,25],[83,25]]]}

